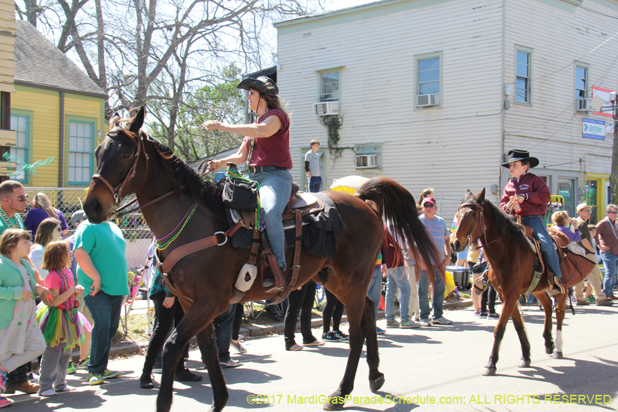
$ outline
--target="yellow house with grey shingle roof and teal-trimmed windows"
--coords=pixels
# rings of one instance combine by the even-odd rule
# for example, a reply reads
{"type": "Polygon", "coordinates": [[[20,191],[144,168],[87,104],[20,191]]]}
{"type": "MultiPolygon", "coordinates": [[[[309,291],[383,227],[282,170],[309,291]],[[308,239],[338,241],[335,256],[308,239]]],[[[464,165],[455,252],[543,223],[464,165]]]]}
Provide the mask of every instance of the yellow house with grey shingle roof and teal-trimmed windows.
{"type": "Polygon", "coordinates": [[[16,26],[10,152],[30,165],[54,161],[10,179],[34,187],[88,186],[94,149],[106,133],[107,95],[36,27],[21,20],[16,26]]]}

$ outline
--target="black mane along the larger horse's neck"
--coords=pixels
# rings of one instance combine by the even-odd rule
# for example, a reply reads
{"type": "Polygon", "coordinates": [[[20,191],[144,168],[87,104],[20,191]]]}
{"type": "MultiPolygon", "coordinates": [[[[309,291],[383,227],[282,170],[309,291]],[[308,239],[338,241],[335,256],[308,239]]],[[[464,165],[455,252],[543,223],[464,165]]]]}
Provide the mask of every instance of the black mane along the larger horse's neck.
{"type": "Polygon", "coordinates": [[[196,203],[201,203],[213,212],[215,216],[223,218],[225,216],[221,200],[223,187],[214,181],[202,179],[190,165],[187,165],[185,161],[174,155],[174,152],[168,146],[165,146],[144,131],[140,130],[140,133],[155,148],[155,152],[161,158],[163,167],[165,167],[165,171],[174,182],[174,185],[181,187],[186,183],[190,196],[196,203]]]}

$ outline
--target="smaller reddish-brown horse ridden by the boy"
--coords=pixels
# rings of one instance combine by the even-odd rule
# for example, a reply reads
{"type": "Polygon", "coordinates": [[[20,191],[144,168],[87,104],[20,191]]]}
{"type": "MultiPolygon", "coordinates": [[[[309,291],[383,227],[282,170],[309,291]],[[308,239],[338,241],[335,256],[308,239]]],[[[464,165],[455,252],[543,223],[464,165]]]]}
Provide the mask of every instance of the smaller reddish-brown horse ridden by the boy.
{"type": "MultiPolygon", "coordinates": [[[[523,231],[507,214],[492,202],[485,199],[485,189],[477,196],[470,190],[464,197],[457,212],[457,229],[451,237],[450,244],[455,251],[463,251],[467,244],[477,244],[481,240],[485,255],[490,263],[489,280],[498,292],[503,303],[502,313],[494,329],[494,347],[489,362],[485,365],[483,375],[496,374],[496,363],[500,343],[504,336],[507,321],[513,319],[513,325],[521,343],[521,361],[519,367],[530,366],[530,343],[526,336],[523,319],[517,307],[519,297],[529,288],[534,274],[535,253],[531,250],[523,231]]],[[[547,265],[540,282],[533,292],[545,310],[545,352],[554,358],[562,358],[562,320],[567,294],[558,297],[556,306],[556,346],[551,339],[551,299],[547,295],[550,288],[547,280],[547,265]]],[[[568,285],[572,286],[572,285],[568,285]]]]}

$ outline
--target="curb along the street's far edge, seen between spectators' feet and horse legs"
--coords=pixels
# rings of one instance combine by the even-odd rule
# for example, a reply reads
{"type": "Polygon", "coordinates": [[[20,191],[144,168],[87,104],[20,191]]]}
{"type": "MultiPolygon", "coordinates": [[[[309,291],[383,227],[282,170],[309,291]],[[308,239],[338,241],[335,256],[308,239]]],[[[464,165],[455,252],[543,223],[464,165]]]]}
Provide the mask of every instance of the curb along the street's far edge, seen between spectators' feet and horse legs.
{"type": "MultiPolygon", "coordinates": [[[[468,308],[469,306],[472,306],[472,299],[462,299],[462,300],[455,301],[455,302],[445,302],[444,303],[444,309],[448,309],[448,310],[463,309],[463,308],[468,308]]],[[[398,314],[398,313],[399,311],[396,310],[395,314],[398,314]]],[[[385,316],[384,310],[379,310],[378,319],[383,319],[384,316],[385,316]]],[[[341,317],[341,321],[347,322],[347,316],[344,315],[343,317],[341,317]]],[[[311,319],[312,329],[321,328],[322,324],[323,323],[322,323],[321,317],[311,319]]],[[[299,331],[300,331],[300,325],[297,325],[297,332],[299,331]]],[[[240,328],[240,334],[243,334],[244,336],[251,336],[251,337],[266,336],[269,334],[282,334],[283,332],[284,332],[283,322],[274,323],[273,325],[251,325],[245,328],[240,328]]],[[[197,339],[194,337],[193,339],[191,339],[190,343],[196,343],[196,342],[197,342],[197,339]]],[[[130,353],[138,352],[140,349],[146,350],[147,347],[148,347],[148,342],[139,343],[139,344],[133,343],[133,342],[126,342],[126,343],[121,343],[120,345],[115,345],[111,347],[109,354],[110,356],[130,354],[130,353]]],[[[73,352],[72,357],[73,357],[73,361],[75,361],[76,359],[79,359],[80,352],[79,351],[73,352]]]]}

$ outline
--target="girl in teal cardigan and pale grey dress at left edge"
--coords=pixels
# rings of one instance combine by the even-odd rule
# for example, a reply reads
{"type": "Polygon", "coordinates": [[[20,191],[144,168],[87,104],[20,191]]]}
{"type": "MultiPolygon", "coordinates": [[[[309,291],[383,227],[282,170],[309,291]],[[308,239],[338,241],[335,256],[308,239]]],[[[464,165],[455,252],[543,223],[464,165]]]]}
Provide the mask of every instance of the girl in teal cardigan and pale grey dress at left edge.
{"type": "MultiPolygon", "coordinates": [[[[49,290],[36,284],[34,268],[25,260],[30,239],[30,233],[21,229],[6,229],[0,236],[0,393],[6,390],[8,372],[45,350],[34,298],[49,290]]],[[[0,398],[0,408],[11,403],[0,398]]]]}

